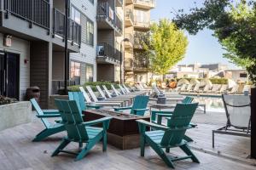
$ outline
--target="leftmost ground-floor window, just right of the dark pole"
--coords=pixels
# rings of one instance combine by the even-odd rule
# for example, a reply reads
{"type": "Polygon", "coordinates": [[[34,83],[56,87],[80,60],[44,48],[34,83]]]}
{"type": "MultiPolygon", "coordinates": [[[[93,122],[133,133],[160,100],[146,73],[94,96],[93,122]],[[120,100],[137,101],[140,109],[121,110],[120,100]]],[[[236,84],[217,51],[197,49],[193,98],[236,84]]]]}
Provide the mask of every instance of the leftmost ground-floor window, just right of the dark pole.
{"type": "Polygon", "coordinates": [[[71,61],[70,63],[70,80],[75,84],[80,84],[81,78],[81,64],[78,62],[71,61]]]}

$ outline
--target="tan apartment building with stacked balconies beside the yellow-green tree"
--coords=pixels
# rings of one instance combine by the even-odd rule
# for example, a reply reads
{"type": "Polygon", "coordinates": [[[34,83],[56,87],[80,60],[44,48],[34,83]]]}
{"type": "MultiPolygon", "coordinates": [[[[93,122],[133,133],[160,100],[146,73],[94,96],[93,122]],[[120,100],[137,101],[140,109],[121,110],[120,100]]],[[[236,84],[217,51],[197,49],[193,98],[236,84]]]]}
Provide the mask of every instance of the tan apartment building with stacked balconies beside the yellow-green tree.
{"type": "Polygon", "coordinates": [[[125,0],[125,82],[148,82],[148,59],[144,55],[143,38],[148,37],[150,10],[154,0],[125,0]]]}

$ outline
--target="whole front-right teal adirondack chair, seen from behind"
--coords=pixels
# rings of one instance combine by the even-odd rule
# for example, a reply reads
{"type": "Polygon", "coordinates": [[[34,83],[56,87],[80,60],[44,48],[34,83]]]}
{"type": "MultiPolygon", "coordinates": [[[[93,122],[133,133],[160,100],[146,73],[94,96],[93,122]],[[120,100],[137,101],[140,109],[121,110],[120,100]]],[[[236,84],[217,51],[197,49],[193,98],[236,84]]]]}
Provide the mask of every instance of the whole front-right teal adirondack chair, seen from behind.
{"type": "Polygon", "coordinates": [[[192,128],[190,121],[195,113],[197,103],[195,104],[177,104],[172,118],[168,119],[169,127],[158,125],[144,120],[137,120],[140,131],[140,147],[141,156],[144,156],[145,144],[149,146],[166,162],[168,167],[174,168],[173,161],[183,159],[191,159],[194,162],[200,163],[193,152],[189,149],[187,141],[184,140],[186,130],[192,128]],[[146,131],[146,127],[153,127],[154,131],[146,131]],[[187,156],[172,157],[166,156],[166,152],[170,152],[171,148],[179,147],[187,156]]]}

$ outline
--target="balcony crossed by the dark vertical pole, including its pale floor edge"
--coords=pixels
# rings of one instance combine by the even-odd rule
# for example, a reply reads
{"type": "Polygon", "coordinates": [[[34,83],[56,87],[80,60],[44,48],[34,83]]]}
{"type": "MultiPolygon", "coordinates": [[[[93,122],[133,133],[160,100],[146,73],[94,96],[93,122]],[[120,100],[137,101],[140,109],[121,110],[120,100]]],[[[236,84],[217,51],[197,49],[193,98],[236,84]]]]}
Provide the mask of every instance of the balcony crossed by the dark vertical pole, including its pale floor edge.
{"type": "MultiPolygon", "coordinates": [[[[65,14],[61,13],[57,8],[53,9],[53,42],[63,46],[65,41],[65,14]]],[[[75,21],[68,19],[67,41],[69,48],[80,48],[81,45],[81,26],[75,21]]],[[[78,49],[73,49],[77,51],[78,49]]]]}

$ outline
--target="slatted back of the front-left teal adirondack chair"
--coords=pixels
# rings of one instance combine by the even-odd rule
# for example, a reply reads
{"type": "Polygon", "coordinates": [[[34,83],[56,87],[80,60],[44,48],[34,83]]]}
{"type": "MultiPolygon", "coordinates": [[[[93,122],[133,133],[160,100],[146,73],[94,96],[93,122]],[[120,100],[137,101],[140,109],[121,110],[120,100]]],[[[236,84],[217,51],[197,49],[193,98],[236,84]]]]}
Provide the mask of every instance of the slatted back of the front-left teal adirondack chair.
{"type": "Polygon", "coordinates": [[[55,104],[60,107],[61,114],[67,118],[64,126],[66,127],[68,138],[80,142],[87,141],[89,137],[86,128],[82,125],[84,121],[77,101],[55,99],[55,104]]]}

